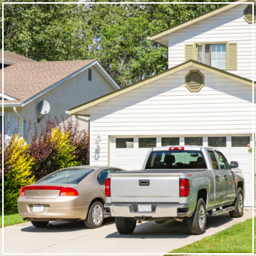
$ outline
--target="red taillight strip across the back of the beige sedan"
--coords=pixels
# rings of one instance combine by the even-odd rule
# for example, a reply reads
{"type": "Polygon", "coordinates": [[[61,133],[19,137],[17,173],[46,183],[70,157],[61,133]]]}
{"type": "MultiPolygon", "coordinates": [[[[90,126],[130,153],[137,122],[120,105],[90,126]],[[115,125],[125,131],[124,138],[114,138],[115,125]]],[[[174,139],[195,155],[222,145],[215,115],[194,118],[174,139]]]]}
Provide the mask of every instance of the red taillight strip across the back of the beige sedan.
{"type": "Polygon", "coordinates": [[[20,196],[25,196],[25,190],[59,190],[60,195],[76,196],[78,191],[72,187],[57,187],[57,186],[26,186],[20,188],[20,196]]]}

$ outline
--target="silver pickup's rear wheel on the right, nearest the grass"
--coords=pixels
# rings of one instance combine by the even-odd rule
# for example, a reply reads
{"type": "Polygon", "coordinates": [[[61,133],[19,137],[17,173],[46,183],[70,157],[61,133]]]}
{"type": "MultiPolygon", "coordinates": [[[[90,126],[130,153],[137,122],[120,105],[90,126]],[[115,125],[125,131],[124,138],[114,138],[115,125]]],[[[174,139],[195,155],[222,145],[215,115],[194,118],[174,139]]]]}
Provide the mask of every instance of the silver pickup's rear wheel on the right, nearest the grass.
{"type": "Polygon", "coordinates": [[[197,200],[194,214],[187,218],[187,229],[193,235],[201,235],[206,229],[206,203],[203,198],[197,200]]]}

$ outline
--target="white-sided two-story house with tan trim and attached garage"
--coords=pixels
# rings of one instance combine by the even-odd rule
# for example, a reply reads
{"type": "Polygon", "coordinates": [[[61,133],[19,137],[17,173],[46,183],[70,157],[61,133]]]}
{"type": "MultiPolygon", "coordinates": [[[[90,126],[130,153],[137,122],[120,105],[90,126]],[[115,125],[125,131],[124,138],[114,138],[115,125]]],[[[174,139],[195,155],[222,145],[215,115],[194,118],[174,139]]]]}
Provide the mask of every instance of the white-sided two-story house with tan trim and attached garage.
{"type": "Polygon", "coordinates": [[[90,116],[91,165],[135,170],[153,146],[217,146],[244,171],[252,206],[252,4],[244,2],[151,36],[168,47],[169,69],[69,110],[90,116]]]}

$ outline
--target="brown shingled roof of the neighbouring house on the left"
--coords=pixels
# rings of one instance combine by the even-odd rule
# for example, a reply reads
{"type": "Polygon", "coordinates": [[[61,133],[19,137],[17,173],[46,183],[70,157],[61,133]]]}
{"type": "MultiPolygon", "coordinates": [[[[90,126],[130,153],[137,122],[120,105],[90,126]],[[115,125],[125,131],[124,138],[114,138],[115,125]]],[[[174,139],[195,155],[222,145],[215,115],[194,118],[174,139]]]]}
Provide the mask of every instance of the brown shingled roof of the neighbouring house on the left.
{"type": "MultiPolygon", "coordinates": [[[[4,97],[18,99],[23,105],[44,94],[83,70],[94,66],[114,89],[120,89],[95,59],[83,61],[18,62],[4,68],[4,97]]],[[[2,78],[0,78],[2,80],[2,78]]],[[[4,103],[9,101],[4,101],[4,103]]],[[[10,102],[11,103],[11,102],[10,102]]]]}

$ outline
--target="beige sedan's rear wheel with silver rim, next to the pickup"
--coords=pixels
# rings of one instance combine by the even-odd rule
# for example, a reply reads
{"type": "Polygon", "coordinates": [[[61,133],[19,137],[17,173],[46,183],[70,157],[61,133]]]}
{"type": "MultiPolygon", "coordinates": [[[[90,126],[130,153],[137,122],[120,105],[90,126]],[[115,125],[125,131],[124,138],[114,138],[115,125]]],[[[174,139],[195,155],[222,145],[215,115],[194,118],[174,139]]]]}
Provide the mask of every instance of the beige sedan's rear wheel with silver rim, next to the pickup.
{"type": "Polygon", "coordinates": [[[102,203],[95,201],[87,213],[86,219],[83,221],[88,228],[101,227],[104,220],[104,208],[102,203]]]}

